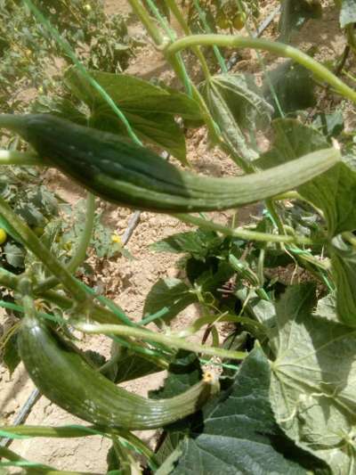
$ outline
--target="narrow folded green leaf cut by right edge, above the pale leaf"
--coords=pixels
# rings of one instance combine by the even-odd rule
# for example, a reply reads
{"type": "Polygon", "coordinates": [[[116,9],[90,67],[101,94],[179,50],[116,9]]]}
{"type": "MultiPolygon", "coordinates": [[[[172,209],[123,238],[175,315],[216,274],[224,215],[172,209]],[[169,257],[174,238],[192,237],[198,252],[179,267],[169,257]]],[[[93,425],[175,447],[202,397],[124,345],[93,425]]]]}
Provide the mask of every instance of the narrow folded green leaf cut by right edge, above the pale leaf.
{"type": "Polygon", "coordinates": [[[337,236],[330,246],[336,282],[336,313],[340,322],[356,326],[356,250],[337,236]]]}

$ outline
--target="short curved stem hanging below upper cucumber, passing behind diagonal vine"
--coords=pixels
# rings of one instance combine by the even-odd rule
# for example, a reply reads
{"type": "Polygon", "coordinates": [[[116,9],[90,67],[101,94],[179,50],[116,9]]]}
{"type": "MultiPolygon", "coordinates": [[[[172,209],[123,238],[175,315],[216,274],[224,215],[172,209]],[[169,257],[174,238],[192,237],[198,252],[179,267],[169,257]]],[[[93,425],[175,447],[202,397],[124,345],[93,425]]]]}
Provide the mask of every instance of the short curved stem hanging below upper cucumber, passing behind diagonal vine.
{"type": "MultiPolygon", "coordinates": [[[[95,196],[91,192],[88,192],[86,198],[85,217],[85,227],[80,236],[77,249],[70,259],[68,266],[66,266],[70,274],[74,274],[77,270],[77,267],[81,266],[85,261],[86,250],[88,249],[88,246],[92,240],[95,218],[95,196]]],[[[57,283],[59,283],[58,279],[56,279],[54,276],[51,276],[48,279],[45,279],[44,282],[39,283],[36,286],[35,291],[36,293],[49,291],[57,283]]]]}

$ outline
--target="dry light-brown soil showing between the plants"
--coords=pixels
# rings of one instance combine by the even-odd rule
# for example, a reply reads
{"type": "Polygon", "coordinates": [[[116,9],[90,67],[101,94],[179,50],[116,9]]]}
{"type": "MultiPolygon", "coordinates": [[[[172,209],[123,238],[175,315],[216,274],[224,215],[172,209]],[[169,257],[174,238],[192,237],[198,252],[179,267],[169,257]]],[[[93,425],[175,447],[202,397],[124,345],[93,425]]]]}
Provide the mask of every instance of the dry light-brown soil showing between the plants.
{"type": "MultiPolygon", "coordinates": [[[[106,0],[106,8],[109,14],[120,12],[128,14],[130,7],[125,0],[106,0]]],[[[265,12],[271,12],[277,1],[265,2],[265,12]]],[[[340,33],[336,10],[331,6],[332,2],[327,2],[322,21],[310,20],[301,32],[295,36],[294,43],[304,51],[308,50],[316,41],[320,45],[317,59],[326,60],[334,58],[335,54],[340,54],[344,48],[344,37],[340,33]]],[[[264,17],[264,14],[263,14],[264,17]]],[[[130,27],[135,34],[143,34],[137,24],[130,27]]],[[[266,31],[265,37],[277,36],[277,19],[266,31]]],[[[268,54],[263,55],[267,61],[274,62],[268,54]]],[[[243,61],[240,61],[235,70],[248,70],[250,72],[259,69],[255,58],[255,53],[244,52],[243,61]]],[[[151,45],[144,46],[141,53],[134,58],[127,71],[142,78],[159,77],[172,84],[173,74],[167,68],[160,52],[151,45]]],[[[268,145],[268,142],[265,144],[268,145]]],[[[208,147],[205,129],[198,129],[187,137],[188,159],[197,172],[214,176],[236,175],[239,169],[226,159],[222,152],[211,150],[208,147]]],[[[61,176],[58,172],[50,170],[46,175],[46,182],[50,188],[55,190],[69,203],[76,203],[83,197],[82,190],[74,186],[72,182],[61,176]]],[[[106,222],[113,227],[114,232],[122,235],[132,215],[130,209],[117,209],[107,203],[100,203],[104,210],[106,222]]],[[[254,208],[242,209],[239,213],[241,223],[247,222],[250,216],[255,214],[254,208]]],[[[218,219],[226,222],[231,217],[230,213],[221,213],[218,219]]],[[[171,254],[157,254],[149,249],[152,242],[162,239],[170,234],[183,232],[190,229],[173,217],[157,215],[144,212],[141,216],[140,224],[137,226],[133,237],[127,244],[127,249],[133,254],[134,260],[125,258],[110,259],[105,261],[93,260],[100,269],[96,274],[96,281],[92,285],[98,285],[102,291],[114,299],[125,312],[135,320],[142,318],[142,307],[145,296],[153,283],[159,277],[179,276],[179,270],[175,263],[177,257],[171,254]]],[[[174,321],[174,328],[186,326],[198,315],[198,309],[194,306],[188,307],[174,321]]],[[[10,325],[9,317],[0,315],[0,323],[10,325]]],[[[88,339],[83,341],[84,346],[97,349],[101,354],[109,354],[109,342],[104,338],[88,339]]],[[[147,396],[150,389],[156,389],[165,377],[165,373],[158,373],[140,380],[125,384],[125,388],[136,394],[147,396]]],[[[34,389],[31,381],[20,364],[12,376],[7,373],[4,367],[0,368],[0,423],[11,423],[20,407],[24,405],[29,394],[34,389]]],[[[53,405],[45,397],[40,397],[36,405],[28,415],[28,424],[39,424],[46,426],[58,426],[65,424],[81,423],[78,419],[62,411],[53,405]]],[[[140,436],[154,446],[155,434],[145,432],[140,436]]],[[[100,437],[75,438],[75,439],[24,439],[16,440],[11,444],[12,450],[31,461],[47,463],[59,470],[71,471],[93,471],[105,473],[106,455],[110,446],[109,440],[100,437]]],[[[10,472],[18,472],[11,470],[10,472]]]]}

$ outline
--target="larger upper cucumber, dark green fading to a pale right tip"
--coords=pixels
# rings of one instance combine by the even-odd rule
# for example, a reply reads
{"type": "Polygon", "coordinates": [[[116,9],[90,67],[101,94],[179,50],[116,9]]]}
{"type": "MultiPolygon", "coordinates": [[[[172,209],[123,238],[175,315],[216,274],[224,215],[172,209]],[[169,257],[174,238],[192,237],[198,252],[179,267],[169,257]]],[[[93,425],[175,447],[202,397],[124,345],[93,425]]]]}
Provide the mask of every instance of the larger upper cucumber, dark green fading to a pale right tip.
{"type": "Polygon", "coordinates": [[[0,115],[0,127],[19,133],[49,164],[104,200],[161,212],[236,208],[303,184],[336,164],[336,149],[248,176],[214,178],[175,168],[118,135],[49,114],[0,115]]]}

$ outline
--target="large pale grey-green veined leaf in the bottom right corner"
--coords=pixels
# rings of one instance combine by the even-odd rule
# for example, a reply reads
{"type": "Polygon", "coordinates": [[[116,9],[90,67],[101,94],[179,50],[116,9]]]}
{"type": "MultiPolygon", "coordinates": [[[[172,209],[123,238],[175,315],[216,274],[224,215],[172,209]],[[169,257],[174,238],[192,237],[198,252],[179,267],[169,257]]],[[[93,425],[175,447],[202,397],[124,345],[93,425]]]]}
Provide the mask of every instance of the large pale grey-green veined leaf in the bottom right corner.
{"type": "Polygon", "coordinates": [[[271,340],[271,404],[277,422],[333,473],[354,473],[356,340],[350,327],[312,315],[315,289],[289,287],[271,340]]]}

